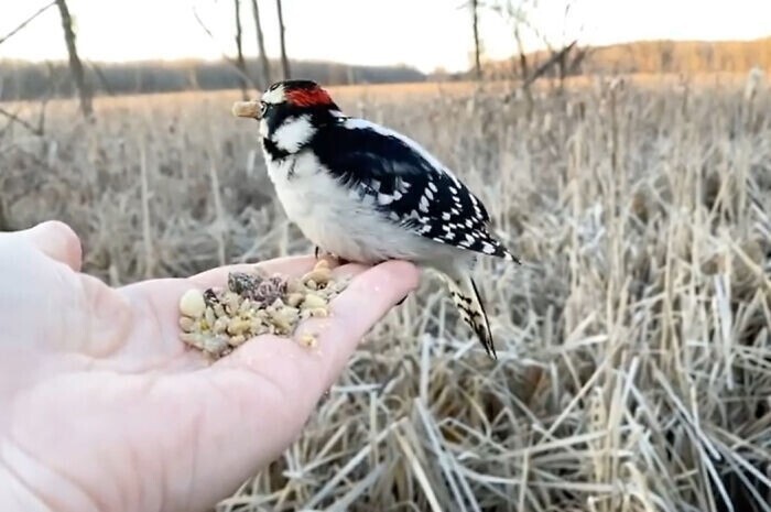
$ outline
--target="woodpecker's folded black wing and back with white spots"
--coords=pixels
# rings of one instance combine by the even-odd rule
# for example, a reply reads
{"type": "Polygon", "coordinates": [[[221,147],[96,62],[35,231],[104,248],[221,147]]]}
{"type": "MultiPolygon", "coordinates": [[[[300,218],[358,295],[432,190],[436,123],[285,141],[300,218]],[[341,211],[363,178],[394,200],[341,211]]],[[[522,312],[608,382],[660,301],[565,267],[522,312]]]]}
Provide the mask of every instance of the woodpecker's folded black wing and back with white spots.
{"type": "Polygon", "coordinates": [[[487,230],[482,203],[416,142],[368,121],[340,118],[311,144],[352,195],[422,237],[517,261],[487,230]]]}

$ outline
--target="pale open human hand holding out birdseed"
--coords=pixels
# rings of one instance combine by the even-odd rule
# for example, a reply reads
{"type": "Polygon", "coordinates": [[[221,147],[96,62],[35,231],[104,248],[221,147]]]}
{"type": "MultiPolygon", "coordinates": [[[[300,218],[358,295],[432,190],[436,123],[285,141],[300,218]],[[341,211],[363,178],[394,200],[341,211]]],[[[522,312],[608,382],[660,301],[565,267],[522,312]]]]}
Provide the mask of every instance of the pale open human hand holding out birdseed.
{"type": "MultiPolygon", "coordinates": [[[[262,336],[207,364],[177,301],[228,270],[112,288],[61,222],[0,233],[0,510],[210,510],[300,436],[361,337],[413,290],[405,262],[348,264],[308,349],[262,336]]],[[[297,275],[312,257],[271,260],[297,275]]]]}

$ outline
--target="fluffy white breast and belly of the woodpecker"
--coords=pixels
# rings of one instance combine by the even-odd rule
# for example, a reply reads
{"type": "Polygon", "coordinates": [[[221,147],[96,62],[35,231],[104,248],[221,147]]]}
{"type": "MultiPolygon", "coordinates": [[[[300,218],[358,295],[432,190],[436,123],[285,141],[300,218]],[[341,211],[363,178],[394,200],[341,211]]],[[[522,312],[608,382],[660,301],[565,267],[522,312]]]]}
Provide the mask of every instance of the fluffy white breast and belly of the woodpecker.
{"type": "Polygon", "coordinates": [[[441,246],[389,221],[371,198],[351,195],[312,153],[270,163],[268,172],[290,220],[314,244],[339,258],[361,263],[420,261],[432,253],[426,244],[441,246]]]}

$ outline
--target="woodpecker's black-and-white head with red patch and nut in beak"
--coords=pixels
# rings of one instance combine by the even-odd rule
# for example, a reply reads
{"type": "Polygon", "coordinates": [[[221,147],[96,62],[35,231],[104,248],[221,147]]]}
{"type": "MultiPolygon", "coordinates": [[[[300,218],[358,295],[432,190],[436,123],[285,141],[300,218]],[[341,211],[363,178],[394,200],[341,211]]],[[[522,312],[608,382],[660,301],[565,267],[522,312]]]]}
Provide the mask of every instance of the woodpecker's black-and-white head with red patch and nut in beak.
{"type": "Polygon", "coordinates": [[[259,120],[263,148],[273,159],[303,150],[321,127],[340,116],[329,94],[312,80],[275,83],[259,101],[237,104],[234,112],[259,120]]]}

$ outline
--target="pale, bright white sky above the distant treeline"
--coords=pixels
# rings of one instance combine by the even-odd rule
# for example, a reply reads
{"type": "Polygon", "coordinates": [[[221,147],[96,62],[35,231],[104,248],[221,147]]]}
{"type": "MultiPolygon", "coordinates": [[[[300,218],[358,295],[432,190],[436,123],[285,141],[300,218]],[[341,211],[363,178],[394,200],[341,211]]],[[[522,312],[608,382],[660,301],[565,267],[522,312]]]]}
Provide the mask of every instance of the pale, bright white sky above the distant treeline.
{"type": "MultiPolygon", "coordinates": [[[[0,37],[48,0],[0,0],[0,37]]],[[[517,3],[518,0],[512,0],[517,3]]],[[[349,64],[408,64],[423,72],[469,65],[473,48],[465,0],[284,0],[290,58],[349,64]]],[[[749,40],[771,35],[771,0],[540,0],[531,14],[555,44],[674,39],[749,40]]],[[[78,50],[90,61],[219,58],[235,53],[232,0],[68,0],[78,50]],[[215,35],[200,29],[196,9],[215,35]]],[[[245,52],[254,55],[251,1],[241,0],[245,52]]],[[[279,53],[274,0],[260,0],[268,54],[279,53]]],[[[481,36],[490,58],[510,55],[509,26],[482,12],[481,36]]],[[[534,50],[537,40],[528,44],[534,50]]],[[[66,59],[55,8],[0,44],[0,59],[66,59]]]]}

